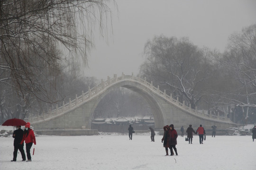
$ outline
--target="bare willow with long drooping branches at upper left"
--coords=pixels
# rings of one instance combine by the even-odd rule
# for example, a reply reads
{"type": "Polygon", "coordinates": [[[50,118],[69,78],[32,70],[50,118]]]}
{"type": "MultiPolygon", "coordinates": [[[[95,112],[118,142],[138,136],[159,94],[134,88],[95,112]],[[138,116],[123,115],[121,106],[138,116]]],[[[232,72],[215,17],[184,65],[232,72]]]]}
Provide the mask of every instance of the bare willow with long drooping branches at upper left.
{"type": "Polygon", "coordinates": [[[102,29],[102,18],[110,12],[103,0],[1,0],[0,83],[15,87],[25,101],[28,92],[55,102],[46,99],[62,62],[76,59],[87,64],[94,24],[102,29]],[[68,50],[68,58],[58,49],[68,50]]]}

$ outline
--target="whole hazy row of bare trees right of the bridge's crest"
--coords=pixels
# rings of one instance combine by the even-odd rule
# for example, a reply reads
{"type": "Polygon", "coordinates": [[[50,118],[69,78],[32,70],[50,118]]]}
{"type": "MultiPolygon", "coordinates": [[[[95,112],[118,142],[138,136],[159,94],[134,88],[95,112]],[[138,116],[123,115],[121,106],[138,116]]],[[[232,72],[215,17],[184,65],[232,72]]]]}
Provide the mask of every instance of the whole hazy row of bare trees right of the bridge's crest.
{"type": "Polygon", "coordinates": [[[140,75],[198,110],[222,110],[236,123],[256,123],[256,25],[231,34],[225,52],[189,38],[155,36],[145,44],[140,75]]]}

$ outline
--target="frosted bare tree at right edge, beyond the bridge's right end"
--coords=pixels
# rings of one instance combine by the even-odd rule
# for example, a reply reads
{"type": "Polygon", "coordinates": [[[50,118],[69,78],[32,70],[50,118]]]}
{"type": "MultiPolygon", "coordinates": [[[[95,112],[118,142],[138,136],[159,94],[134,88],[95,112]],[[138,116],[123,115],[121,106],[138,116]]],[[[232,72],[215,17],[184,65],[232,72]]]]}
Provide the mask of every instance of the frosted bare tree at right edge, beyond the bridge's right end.
{"type": "Polygon", "coordinates": [[[220,93],[220,101],[235,107],[243,114],[243,122],[255,117],[256,108],[256,25],[231,34],[227,51],[219,60],[229,76],[223,81],[226,91],[220,93]]]}

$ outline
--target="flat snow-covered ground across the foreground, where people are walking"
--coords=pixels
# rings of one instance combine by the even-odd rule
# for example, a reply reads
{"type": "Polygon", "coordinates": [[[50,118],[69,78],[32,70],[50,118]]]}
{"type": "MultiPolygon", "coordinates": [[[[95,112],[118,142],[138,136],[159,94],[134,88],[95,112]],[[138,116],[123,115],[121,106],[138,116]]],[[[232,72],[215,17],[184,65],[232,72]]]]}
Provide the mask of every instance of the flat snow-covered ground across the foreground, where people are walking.
{"type": "MultiPolygon", "coordinates": [[[[101,133],[97,136],[36,136],[32,162],[13,156],[13,138],[0,137],[0,170],[255,170],[256,140],[252,136],[177,138],[178,156],[165,156],[162,136],[150,133],[101,133]]],[[[34,145],[31,148],[31,154],[34,145]]],[[[25,150],[25,146],[24,146],[25,150]]],[[[26,153],[26,150],[25,150],[26,153]]],[[[169,152],[170,153],[170,152],[169,152]]]]}

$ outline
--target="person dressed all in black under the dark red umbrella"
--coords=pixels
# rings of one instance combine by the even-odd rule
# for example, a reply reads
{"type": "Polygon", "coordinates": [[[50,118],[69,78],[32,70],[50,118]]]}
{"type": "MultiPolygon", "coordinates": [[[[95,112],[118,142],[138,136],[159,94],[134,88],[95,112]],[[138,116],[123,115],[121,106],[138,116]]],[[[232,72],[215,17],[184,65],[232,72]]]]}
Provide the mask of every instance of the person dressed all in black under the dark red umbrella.
{"type": "Polygon", "coordinates": [[[17,126],[17,130],[14,130],[12,137],[14,138],[14,151],[13,151],[13,159],[11,161],[16,161],[18,150],[21,153],[22,161],[26,161],[26,155],[23,149],[24,144],[20,144],[23,137],[23,130],[20,128],[21,126],[17,126]]]}

